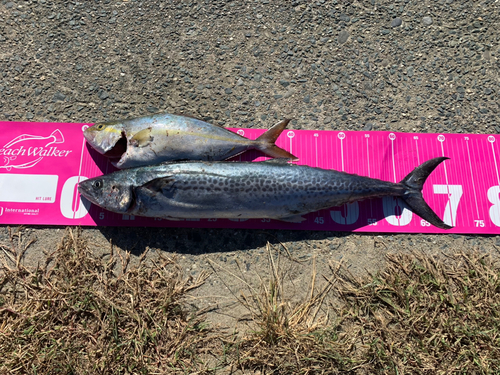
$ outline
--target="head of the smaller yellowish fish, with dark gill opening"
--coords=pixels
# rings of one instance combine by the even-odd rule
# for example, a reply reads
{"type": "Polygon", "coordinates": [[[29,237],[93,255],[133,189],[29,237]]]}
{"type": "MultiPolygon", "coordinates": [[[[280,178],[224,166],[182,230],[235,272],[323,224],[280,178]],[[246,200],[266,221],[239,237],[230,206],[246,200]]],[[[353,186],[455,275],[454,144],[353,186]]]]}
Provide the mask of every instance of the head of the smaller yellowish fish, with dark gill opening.
{"type": "Polygon", "coordinates": [[[121,121],[100,122],[83,132],[87,142],[100,154],[119,159],[127,150],[125,125],[121,121]]]}

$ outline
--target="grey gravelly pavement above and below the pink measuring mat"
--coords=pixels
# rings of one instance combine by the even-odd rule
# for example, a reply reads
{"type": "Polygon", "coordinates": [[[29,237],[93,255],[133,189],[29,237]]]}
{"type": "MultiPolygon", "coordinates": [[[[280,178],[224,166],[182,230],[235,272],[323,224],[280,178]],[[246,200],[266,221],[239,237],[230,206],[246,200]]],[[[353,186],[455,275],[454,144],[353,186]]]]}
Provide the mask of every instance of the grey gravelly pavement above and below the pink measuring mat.
{"type": "MultiPolygon", "coordinates": [[[[224,126],[499,133],[498,0],[0,0],[0,119],[96,122],[165,111],[224,126]]],[[[30,227],[36,264],[62,229],[30,227]]],[[[343,259],[376,271],[388,251],[494,251],[499,236],[209,229],[84,229],[96,252],[178,254],[218,269],[193,304],[224,326],[283,244],[294,297],[343,259]],[[222,271],[220,267],[225,270],[222,271]],[[228,289],[227,286],[230,288],[228,289]]],[[[0,228],[0,240],[7,228],[0,228]]]]}

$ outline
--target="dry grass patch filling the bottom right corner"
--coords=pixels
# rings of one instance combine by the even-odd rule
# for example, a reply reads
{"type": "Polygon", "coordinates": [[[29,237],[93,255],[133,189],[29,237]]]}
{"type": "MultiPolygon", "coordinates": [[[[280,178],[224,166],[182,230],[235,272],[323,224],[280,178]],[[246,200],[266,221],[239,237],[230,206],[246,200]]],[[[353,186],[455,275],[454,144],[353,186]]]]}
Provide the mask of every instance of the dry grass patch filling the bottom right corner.
{"type": "Polygon", "coordinates": [[[366,373],[500,373],[500,265],[475,251],[387,257],[362,279],[336,273],[343,336],[366,373]]]}

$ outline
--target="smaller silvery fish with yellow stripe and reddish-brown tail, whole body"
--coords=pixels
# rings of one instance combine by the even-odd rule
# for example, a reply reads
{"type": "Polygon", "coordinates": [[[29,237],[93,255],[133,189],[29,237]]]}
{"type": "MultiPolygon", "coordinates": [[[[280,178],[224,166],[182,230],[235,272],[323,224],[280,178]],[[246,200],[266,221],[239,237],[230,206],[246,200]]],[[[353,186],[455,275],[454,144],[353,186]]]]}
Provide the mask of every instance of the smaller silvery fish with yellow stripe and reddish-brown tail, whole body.
{"type": "Polygon", "coordinates": [[[279,122],[256,140],[201,120],[171,114],[98,123],[87,128],[83,135],[119,169],[173,160],[226,160],[249,149],[297,160],[274,144],[289,121],[279,122]]]}

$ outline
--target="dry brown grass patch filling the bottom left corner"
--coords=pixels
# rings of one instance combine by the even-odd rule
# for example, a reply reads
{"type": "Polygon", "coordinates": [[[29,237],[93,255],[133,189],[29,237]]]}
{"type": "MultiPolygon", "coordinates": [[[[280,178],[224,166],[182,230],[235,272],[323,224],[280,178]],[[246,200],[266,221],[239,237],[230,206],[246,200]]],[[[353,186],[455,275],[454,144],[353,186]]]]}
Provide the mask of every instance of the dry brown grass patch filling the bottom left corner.
{"type": "Polygon", "coordinates": [[[0,373],[195,373],[209,350],[208,329],[182,300],[204,282],[175,262],[129,254],[96,258],[68,230],[44,266],[22,264],[21,232],[1,247],[0,373]]]}

